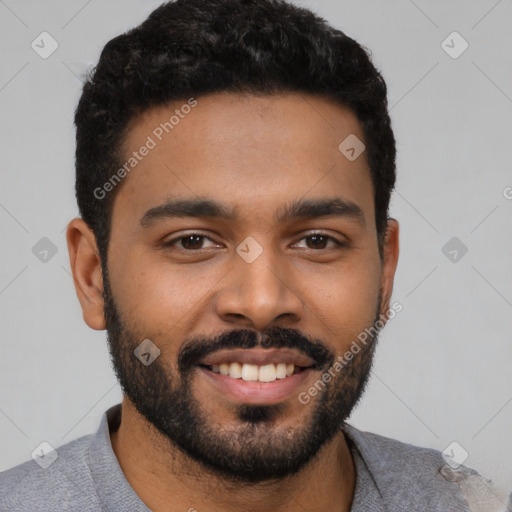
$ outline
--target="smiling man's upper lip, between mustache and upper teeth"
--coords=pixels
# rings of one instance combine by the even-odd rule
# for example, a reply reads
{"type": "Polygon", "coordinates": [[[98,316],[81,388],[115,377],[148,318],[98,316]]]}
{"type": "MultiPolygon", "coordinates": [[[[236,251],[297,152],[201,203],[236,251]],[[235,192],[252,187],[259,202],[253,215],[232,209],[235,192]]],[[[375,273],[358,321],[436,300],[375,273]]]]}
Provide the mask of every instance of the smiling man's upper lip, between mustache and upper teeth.
{"type": "Polygon", "coordinates": [[[255,364],[294,364],[302,368],[314,366],[315,362],[308,356],[289,348],[251,348],[218,350],[205,358],[199,364],[211,366],[222,363],[255,364]]]}

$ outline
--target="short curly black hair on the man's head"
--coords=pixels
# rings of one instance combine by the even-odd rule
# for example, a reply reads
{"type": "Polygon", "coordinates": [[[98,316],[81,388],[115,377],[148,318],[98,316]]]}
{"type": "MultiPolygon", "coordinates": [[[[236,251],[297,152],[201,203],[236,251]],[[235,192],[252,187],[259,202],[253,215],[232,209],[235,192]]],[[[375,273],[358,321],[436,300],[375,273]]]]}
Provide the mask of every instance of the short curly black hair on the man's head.
{"type": "MultiPolygon", "coordinates": [[[[103,262],[120,186],[95,191],[123,165],[130,121],[154,106],[214,92],[322,95],[360,122],[382,247],[395,185],[386,84],[365,47],[283,0],[176,0],[110,40],[75,111],[76,198],[103,262]]],[[[340,141],[341,142],[341,141],[340,141]]]]}

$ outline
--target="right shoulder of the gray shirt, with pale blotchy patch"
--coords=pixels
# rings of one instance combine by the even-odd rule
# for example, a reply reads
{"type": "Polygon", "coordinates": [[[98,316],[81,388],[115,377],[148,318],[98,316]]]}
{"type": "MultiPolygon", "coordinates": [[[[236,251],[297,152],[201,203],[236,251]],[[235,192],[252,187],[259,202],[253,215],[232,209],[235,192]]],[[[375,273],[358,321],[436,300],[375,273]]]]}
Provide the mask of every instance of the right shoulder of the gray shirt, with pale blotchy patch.
{"type": "Polygon", "coordinates": [[[470,467],[445,460],[439,450],[364,432],[348,424],[343,431],[357,447],[383,497],[396,507],[394,510],[511,510],[508,497],[500,494],[490,480],[470,467]],[[478,508],[482,504],[485,507],[478,508]]]}

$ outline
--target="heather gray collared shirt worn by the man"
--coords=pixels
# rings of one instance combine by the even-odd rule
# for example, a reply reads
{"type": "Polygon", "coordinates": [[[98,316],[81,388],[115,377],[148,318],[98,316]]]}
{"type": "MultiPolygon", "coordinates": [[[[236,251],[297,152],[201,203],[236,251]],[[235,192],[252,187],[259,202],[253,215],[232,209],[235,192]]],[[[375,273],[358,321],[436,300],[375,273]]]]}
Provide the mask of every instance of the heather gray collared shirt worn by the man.
{"type": "MultiPolygon", "coordinates": [[[[147,512],[112,450],[109,429],[118,428],[120,415],[118,404],[103,415],[96,434],[71,441],[45,455],[46,459],[30,460],[0,473],[0,511],[147,512]]],[[[455,481],[467,481],[475,471],[464,468],[455,477],[453,472],[451,477],[443,476],[439,469],[444,462],[435,450],[362,432],[348,424],[343,431],[356,467],[351,512],[477,510],[468,508],[455,481]]]]}

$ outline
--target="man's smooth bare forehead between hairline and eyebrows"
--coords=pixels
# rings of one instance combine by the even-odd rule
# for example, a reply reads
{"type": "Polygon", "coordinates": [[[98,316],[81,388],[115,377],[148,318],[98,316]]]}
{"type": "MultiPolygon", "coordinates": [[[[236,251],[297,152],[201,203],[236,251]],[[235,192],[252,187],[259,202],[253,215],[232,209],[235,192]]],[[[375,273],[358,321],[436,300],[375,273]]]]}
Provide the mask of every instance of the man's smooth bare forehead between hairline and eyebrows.
{"type": "Polygon", "coordinates": [[[299,93],[216,93],[151,108],[132,121],[124,141],[123,164],[134,165],[126,166],[113,223],[116,216],[140,219],[169,197],[215,199],[243,220],[274,218],[300,198],[337,196],[371,218],[365,152],[351,161],[339,149],[354,136],[364,141],[350,110],[299,93]]]}

